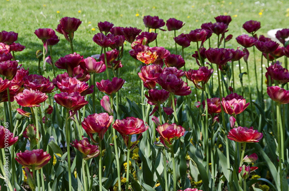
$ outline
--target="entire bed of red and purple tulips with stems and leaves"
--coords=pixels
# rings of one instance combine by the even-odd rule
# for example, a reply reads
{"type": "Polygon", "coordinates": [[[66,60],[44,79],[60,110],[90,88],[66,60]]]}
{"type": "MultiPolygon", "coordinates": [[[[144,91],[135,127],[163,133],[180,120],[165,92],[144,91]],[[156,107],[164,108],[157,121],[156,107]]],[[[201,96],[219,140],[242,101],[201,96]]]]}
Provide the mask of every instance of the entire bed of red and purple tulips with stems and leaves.
{"type": "Polygon", "coordinates": [[[284,104],[289,103],[289,91],[284,87],[288,89],[289,82],[289,46],[285,42],[289,29],[277,32],[276,37],[283,44],[279,46],[263,35],[257,37],[260,22],[250,20],[243,28],[251,36],[236,38],[243,50],[226,49],[226,42],[233,38],[226,35],[231,17],[215,19],[216,23],[204,23],[201,29],[178,36],[176,31],[184,23],[174,18],[165,23],[158,16],[144,16],[148,32],[142,33],[141,29],[100,22],[100,32],[92,40],[101,46],[101,53],[84,58],[73,48],[74,32],[81,21],[64,17],[55,30],[69,42],[71,54],[53,62],[52,46],[59,37],[53,29],[35,30],[43,43],[43,50],[36,52],[38,74],[29,74],[28,68],[21,68],[15,60],[14,52],[25,48],[15,43],[18,34],[0,32],[0,103],[4,108],[0,162],[5,165],[7,154],[11,161],[9,168],[0,165],[4,177],[1,189],[18,191],[28,185],[31,190],[246,191],[267,184],[273,190],[288,190],[289,136],[288,119],[284,116],[289,108],[284,104]],[[164,25],[175,33],[175,54],[157,44],[156,31],[164,30],[164,25]],[[217,48],[211,48],[213,33],[217,35],[217,48]],[[120,78],[125,41],[131,43],[129,54],[140,78],[140,106],[128,99],[121,104],[119,96],[125,83],[120,78]],[[151,46],[154,41],[156,46],[151,46]],[[199,65],[197,70],[186,70],[184,61],[184,48],[191,42],[196,42],[192,57],[199,65]],[[220,48],[222,44],[224,48],[220,48]],[[248,48],[252,46],[257,101],[252,99],[256,94],[248,84],[249,103],[244,99],[246,86],[242,79],[247,74],[251,82],[248,48]],[[261,51],[262,61],[263,56],[268,61],[266,80],[261,61],[260,91],[255,47],[261,51]],[[276,60],[282,56],[285,68],[276,60]],[[247,72],[241,71],[242,58],[247,72]],[[237,61],[241,90],[235,86],[237,61]],[[53,70],[52,80],[47,76],[46,63],[53,70]],[[60,70],[55,70],[55,66],[60,70]],[[214,68],[217,85],[212,78],[214,68]],[[96,75],[102,72],[107,79],[95,82],[96,75]],[[195,96],[188,81],[195,87],[195,96]],[[271,98],[266,101],[268,104],[264,103],[264,81],[271,98]],[[20,106],[16,111],[11,106],[14,100],[20,106]],[[102,107],[97,112],[98,101],[102,107]],[[245,123],[251,127],[243,127],[245,123]],[[266,138],[261,143],[263,133],[266,138]],[[270,152],[273,155],[269,158],[270,152]],[[262,164],[255,164],[258,156],[262,164]],[[252,171],[260,179],[247,182],[252,171]],[[265,179],[267,172],[271,173],[270,180],[265,179]],[[199,177],[202,181],[196,184],[199,177]]]}

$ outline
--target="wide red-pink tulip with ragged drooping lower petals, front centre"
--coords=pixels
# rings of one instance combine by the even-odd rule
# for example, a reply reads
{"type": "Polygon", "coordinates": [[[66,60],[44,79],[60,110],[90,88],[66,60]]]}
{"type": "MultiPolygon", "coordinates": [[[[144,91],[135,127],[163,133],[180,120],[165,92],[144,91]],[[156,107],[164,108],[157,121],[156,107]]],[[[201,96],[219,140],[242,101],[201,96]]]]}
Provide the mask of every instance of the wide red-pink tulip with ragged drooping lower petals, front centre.
{"type": "MultiPolygon", "coordinates": [[[[138,119],[135,117],[127,117],[122,120],[116,119],[112,127],[121,134],[127,147],[129,144],[130,135],[140,134],[137,138],[139,139],[141,134],[149,128],[149,126],[146,126],[144,124],[144,121],[142,119],[138,119]]],[[[134,146],[132,146],[131,149],[133,149],[134,146]]]]}

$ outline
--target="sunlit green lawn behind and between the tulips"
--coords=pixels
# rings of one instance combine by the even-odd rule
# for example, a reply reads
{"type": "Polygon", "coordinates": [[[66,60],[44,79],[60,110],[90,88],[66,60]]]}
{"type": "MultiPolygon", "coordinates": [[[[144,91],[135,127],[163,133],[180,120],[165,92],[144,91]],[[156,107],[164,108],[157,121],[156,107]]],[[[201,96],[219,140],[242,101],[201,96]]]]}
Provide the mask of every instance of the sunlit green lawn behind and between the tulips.
{"type": "MultiPolygon", "coordinates": [[[[247,20],[258,20],[261,22],[261,29],[257,32],[258,35],[266,35],[267,31],[274,28],[288,27],[289,4],[286,1],[76,1],[76,0],[2,0],[0,4],[0,19],[1,30],[15,31],[18,33],[18,43],[26,46],[22,52],[15,53],[16,59],[23,64],[23,67],[29,68],[30,74],[37,73],[37,60],[35,52],[38,49],[42,50],[42,42],[34,34],[34,30],[38,28],[55,29],[59,24],[59,20],[64,16],[76,17],[82,21],[79,29],[74,34],[74,50],[75,52],[88,57],[100,53],[98,47],[92,37],[98,33],[97,23],[100,21],[109,21],[114,23],[114,26],[131,26],[138,27],[143,31],[147,31],[144,27],[142,18],[145,15],[157,15],[166,21],[168,18],[177,18],[184,21],[186,24],[183,28],[177,31],[177,35],[188,33],[191,30],[200,28],[202,23],[215,22],[214,17],[218,15],[231,15],[232,22],[229,25],[229,32],[233,39],[226,44],[226,48],[237,48],[239,44],[235,38],[242,33],[246,33],[242,29],[242,24],[247,20]],[[95,31],[93,31],[95,29],[95,31]]],[[[166,26],[162,27],[166,29],[166,26]]],[[[173,40],[173,31],[160,31],[158,33],[158,45],[168,49],[171,53],[175,53],[175,43],[173,40]]],[[[70,53],[69,43],[64,36],[60,36],[60,42],[53,46],[53,61],[55,62],[60,57],[70,53]]],[[[212,47],[216,47],[217,37],[212,35],[212,47]]],[[[154,46],[155,42],[150,46],[154,46]]],[[[208,43],[205,43],[205,48],[208,48],[208,43]]],[[[131,49],[130,44],[124,46],[124,56],[121,68],[121,77],[126,80],[124,85],[125,91],[122,91],[123,98],[128,97],[136,102],[139,100],[139,78],[134,71],[134,59],[128,53],[131,49]]],[[[249,57],[251,87],[252,91],[256,91],[254,68],[253,68],[253,51],[249,49],[251,55],[249,57]]],[[[196,50],[196,44],[191,43],[191,46],[185,49],[185,61],[187,70],[190,68],[198,68],[195,60],[191,55],[196,50]]],[[[179,48],[179,53],[181,49],[179,48]]],[[[260,55],[257,50],[257,71],[260,71],[260,55]]],[[[282,59],[283,61],[283,59],[282,59]]],[[[266,62],[266,60],[264,60],[266,62]]],[[[265,63],[266,65],[266,63],[265,63]]],[[[245,63],[242,61],[242,72],[245,72],[245,63]]],[[[266,71],[265,68],[263,68],[266,71]]],[[[235,67],[235,79],[237,93],[240,93],[240,82],[238,78],[238,67],[235,67]]],[[[57,74],[63,73],[63,70],[56,70],[57,74]]],[[[216,70],[215,70],[216,72],[216,70]]],[[[260,75],[258,74],[260,85],[260,75]]],[[[52,68],[47,64],[47,76],[53,76],[52,68]]],[[[214,76],[216,78],[216,76],[214,76]]],[[[97,75],[97,81],[105,78],[105,74],[97,75]]],[[[248,85],[247,76],[244,76],[244,86],[248,85]]],[[[216,83],[215,83],[216,84],[216,83]]],[[[193,86],[192,83],[189,85],[193,86]]],[[[265,85],[264,85],[265,89],[265,85]]],[[[193,91],[194,92],[194,91],[193,91]]],[[[248,95],[248,91],[245,91],[248,95]]],[[[249,98],[249,96],[246,96],[249,98]]],[[[253,95],[253,99],[256,95],[253,95]]],[[[16,104],[14,104],[16,107],[16,104]]],[[[0,111],[3,111],[3,104],[0,104],[0,111]]],[[[3,119],[3,114],[0,114],[0,119],[3,119]]]]}

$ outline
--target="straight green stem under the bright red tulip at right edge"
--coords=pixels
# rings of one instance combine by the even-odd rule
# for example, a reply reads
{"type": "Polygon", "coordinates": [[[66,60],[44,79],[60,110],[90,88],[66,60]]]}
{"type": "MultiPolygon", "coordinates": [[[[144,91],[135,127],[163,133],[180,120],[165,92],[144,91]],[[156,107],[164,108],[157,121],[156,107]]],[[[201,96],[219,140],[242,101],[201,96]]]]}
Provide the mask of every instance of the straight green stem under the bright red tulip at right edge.
{"type": "MultiPolygon", "coordinates": [[[[269,76],[269,78],[271,78],[271,76],[269,76]]],[[[283,132],[281,133],[281,126],[280,126],[280,106],[279,103],[277,103],[277,137],[278,137],[278,154],[279,154],[279,173],[280,173],[280,188],[282,189],[282,179],[283,179],[283,172],[282,172],[282,160],[284,158],[282,158],[282,146],[281,144],[284,144],[284,142],[281,143],[281,134],[283,134],[283,132]]]]}

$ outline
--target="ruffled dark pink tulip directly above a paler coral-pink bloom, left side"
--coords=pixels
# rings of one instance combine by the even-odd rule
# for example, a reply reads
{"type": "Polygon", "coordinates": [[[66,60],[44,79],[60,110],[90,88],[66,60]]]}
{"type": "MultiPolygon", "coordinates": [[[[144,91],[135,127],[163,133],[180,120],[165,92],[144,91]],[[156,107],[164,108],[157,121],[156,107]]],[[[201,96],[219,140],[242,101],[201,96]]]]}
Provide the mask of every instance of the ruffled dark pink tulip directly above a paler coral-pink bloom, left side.
{"type": "Polygon", "coordinates": [[[26,89],[39,90],[42,93],[51,93],[55,87],[49,79],[37,74],[25,76],[23,80],[26,89]]]}

